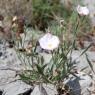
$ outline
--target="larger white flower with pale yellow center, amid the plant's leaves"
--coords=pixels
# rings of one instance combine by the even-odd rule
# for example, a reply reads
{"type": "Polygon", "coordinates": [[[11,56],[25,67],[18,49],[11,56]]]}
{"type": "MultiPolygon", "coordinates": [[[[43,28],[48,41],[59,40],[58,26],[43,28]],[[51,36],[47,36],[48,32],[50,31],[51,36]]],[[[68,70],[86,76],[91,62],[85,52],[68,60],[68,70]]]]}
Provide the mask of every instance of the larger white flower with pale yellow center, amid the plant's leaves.
{"type": "Polygon", "coordinates": [[[42,38],[39,39],[39,44],[42,49],[54,50],[59,46],[59,38],[50,33],[45,34],[42,38]]]}

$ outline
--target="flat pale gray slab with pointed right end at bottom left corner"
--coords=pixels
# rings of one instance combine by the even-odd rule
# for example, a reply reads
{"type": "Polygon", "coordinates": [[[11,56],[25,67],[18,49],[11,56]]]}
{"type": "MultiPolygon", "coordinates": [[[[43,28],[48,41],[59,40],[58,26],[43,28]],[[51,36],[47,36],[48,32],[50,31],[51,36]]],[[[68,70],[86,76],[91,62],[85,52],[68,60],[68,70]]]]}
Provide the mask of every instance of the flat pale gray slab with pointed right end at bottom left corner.
{"type": "Polygon", "coordinates": [[[33,89],[33,87],[25,84],[22,81],[19,81],[19,80],[14,81],[14,82],[11,82],[10,84],[5,85],[3,89],[4,91],[3,95],[18,95],[18,94],[26,92],[30,88],[33,89]]]}

